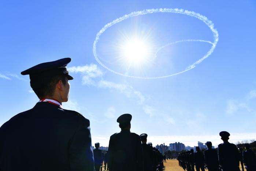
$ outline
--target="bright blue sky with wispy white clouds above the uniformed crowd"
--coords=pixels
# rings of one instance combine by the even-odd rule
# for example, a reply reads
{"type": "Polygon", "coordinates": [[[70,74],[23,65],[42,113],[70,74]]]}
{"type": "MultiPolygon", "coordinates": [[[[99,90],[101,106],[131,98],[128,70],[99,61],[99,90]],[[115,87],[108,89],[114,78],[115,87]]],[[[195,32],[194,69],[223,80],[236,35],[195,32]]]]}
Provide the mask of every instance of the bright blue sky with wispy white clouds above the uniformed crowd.
{"type": "MultiPolygon", "coordinates": [[[[70,99],[66,109],[91,122],[93,144],[108,146],[119,132],[119,115],[133,115],[131,131],[147,133],[153,145],[197,141],[221,143],[256,139],[255,1],[5,1],[0,7],[0,125],[38,101],[21,71],[38,63],[71,57],[70,99]],[[214,52],[192,70],[161,79],[138,79],[106,70],[94,58],[93,42],[105,24],[133,11],[182,8],[207,16],[219,33],[214,52]]],[[[167,43],[214,41],[197,18],[162,13],[135,16],[109,27],[97,55],[115,71],[159,77],[184,70],[211,48],[205,42],[181,42],[163,48],[150,63],[127,71],[120,46],[133,36],[147,38],[151,56],[167,43]],[[114,62],[113,62],[114,61],[114,62]]],[[[149,55],[150,56],[150,55],[149,55]]]]}

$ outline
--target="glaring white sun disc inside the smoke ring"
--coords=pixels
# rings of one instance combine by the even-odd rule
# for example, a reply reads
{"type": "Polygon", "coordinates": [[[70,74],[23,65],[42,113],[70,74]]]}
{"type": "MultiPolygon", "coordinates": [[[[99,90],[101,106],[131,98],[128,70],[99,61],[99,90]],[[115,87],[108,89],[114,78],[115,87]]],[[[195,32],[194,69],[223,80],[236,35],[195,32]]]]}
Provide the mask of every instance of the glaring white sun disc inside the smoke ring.
{"type": "Polygon", "coordinates": [[[141,64],[149,55],[149,45],[145,40],[133,38],[127,40],[122,46],[122,56],[129,63],[141,64]]]}

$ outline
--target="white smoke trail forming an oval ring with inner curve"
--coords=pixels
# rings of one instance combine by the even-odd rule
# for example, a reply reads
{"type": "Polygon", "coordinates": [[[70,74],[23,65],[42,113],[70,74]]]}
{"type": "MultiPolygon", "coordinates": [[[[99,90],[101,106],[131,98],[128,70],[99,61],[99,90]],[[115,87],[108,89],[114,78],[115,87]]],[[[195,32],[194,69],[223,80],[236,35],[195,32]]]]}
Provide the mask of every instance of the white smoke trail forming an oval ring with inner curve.
{"type": "MultiPolygon", "coordinates": [[[[178,9],[178,8],[175,8],[175,9],[173,9],[173,8],[147,9],[147,10],[142,10],[142,11],[131,12],[130,14],[123,15],[123,16],[113,20],[112,22],[107,23],[96,35],[96,38],[95,38],[95,40],[93,42],[93,55],[94,55],[94,58],[96,59],[96,61],[101,66],[103,66],[107,70],[111,71],[112,73],[115,73],[115,74],[118,74],[118,75],[122,75],[122,76],[125,76],[125,77],[131,77],[131,78],[141,78],[141,79],[166,78],[166,77],[171,77],[173,75],[178,75],[178,74],[184,73],[184,72],[186,72],[188,70],[191,70],[194,67],[196,67],[197,64],[200,64],[201,62],[203,62],[204,59],[206,59],[207,57],[209,57],[212,54],[212,52],[214,51],[218,41],[219,41],[218,31],[214,28],[214,23],[212,23],[212,21],[210,21],[206,16],[203,16],[203,15],[201,15],[199,13],[196,13],[196,12],[193,12],[193,11],[188,11],[188,10],[183,10],[183,9],[178,9]],[[121,22],[121,21],[123,21],[125,19],[131,18],[131,17],[134,17],[134,16],[138,16],[138,15],[152,14],[152,13],[156,13],[156,12],[170,12],[170,13],[177,13],[177,14],[185,14],[185,15],[193,16],[193,17],[195,17],[197,19],[200,19],[201,21],[203,21],[211,29],[213,37],[214,37],[214,42],[205,41],[205,40],[181,40],[181,41],[177,41],[177,42],[171,42],[171,43],[169,43],[167,45],[175,44],[175,43],[182,42],[182,41],[202,41],[202,42],[211,43],[212,44],[211,49],[209,49],[209,51],[203,57],[201,57],[199,60],[197,60],[196,62],[194,62],[190,66],[188,66],[184,71],[181,71],[181,72],[175,73],[175,74],[171,74],[171,75],[165,75],[165,76],[162,76],[162,77],[137,77],[137,76],[132,76],[132,75],[126,75],[126,74],[118,73],[118,72],[108,68],[107,66],[105,66],[99,60],[99,57],[97,56],[97,52],[96,52],[97,42],[100,39],[100,35],[103,34],[106,29],[108,29],[109,27],[111,27],[111,26],[115,25],[116,23],[119,23],[119,22],[121,22]]],[[[166,47],[167,45],[164,45],[163,47],[166,47]]],[[[163,47],[160,47],[159,49],[162,49],[163,47]]],[[[159,51],[159,49],[156,51],[156,53],[159,51]]],[[[155,57],[156,57],[156,55],[155,55],[155,57]]]]}

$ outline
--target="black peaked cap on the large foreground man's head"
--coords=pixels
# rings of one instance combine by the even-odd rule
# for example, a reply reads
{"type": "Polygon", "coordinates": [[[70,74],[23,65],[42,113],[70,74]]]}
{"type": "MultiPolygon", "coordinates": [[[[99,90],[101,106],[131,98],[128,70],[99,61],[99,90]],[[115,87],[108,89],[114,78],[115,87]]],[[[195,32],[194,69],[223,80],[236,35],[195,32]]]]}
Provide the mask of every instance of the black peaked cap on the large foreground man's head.
{"type": "Polygon", "coordinates": [[[30,79],[40,78],[44,76],[51,76],[55,74],[65,74],[68,80],[74,79],[70,75],[68,75],[67,64],[71,62],[70,57],[66,57],[63,59],[55,60],[52,62],[45,62],[33,66],[25,71],[22,71],[22,75],[29,75],[30,79]]]}

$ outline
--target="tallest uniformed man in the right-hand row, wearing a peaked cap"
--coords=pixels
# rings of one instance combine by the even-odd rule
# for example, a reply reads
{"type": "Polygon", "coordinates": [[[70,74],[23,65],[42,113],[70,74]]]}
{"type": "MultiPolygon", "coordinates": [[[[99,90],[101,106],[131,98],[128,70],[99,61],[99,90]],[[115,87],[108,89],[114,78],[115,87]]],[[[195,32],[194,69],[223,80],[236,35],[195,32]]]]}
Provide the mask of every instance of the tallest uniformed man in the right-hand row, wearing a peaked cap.
{"type": "Polygon", "coordinates": [[[237,146],[229,143],[230,134],[227,131],[219,133],[222,144],[218,145],[219,164],[223,171],[240,171],[237,146]]]}

